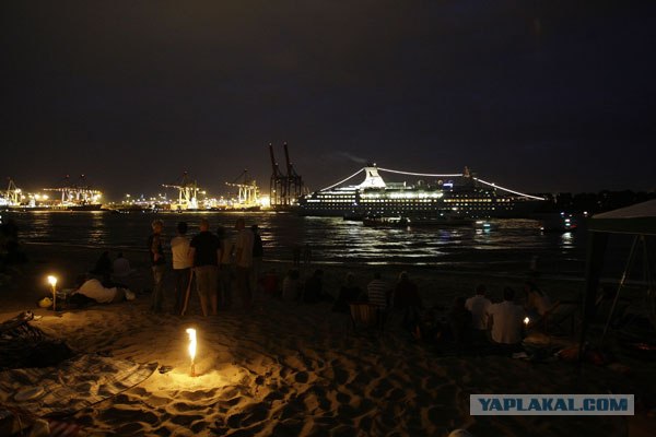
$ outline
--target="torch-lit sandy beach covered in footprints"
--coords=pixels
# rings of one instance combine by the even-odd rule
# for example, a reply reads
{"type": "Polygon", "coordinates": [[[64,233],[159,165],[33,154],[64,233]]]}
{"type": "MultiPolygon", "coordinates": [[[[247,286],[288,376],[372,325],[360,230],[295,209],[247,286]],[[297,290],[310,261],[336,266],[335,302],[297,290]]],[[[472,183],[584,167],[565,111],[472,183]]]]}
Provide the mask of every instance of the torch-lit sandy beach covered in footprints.
{"type": "MultiPolygon", "coordinates": [[[[614,365],[579,367],[555,358],[444,354],[402,331],[398,318],[383,333],[353,332],[348,316],[331,312],[328,303],[302,305],[261,294],[249,312],[224,310],[203,318],[192,294],[187,316],[153,315],[150,296],[141,293],[149,272],[139,252],[126,253],[138,272],[136,300],[54,314],[36,306],[48,294],[45,276],[56,272],[62,287],[71,287],[99,252],[39,245],[25,250],[30,262],[3,285],[0,321],[31,310],[38,318],[32,326],[66,341],[77,354],[169,369],[61,418],[78,424],[79,435],[447,436],[465,428],[475,436],[643,436],[656,428],[656,366],[646,361],[621,356],[614,365]],[[185,332],[190,327],[198,333],[195,377],[185,332]],[[469,395],[476,393],[633,393],[636,414],[471,416],[469,395]]],[[[280,273],[289,267],[266,264],[280,273]]],[[[324,288],[333,295],[348,271],[361,286],[373,271],[319,267],[324,288]]],[[[457,295],[471,295],[478,283],[499,300],[502,287],[520,288],[526,273],[382,270],[390,282],[408,270],[425,304],[444,306],[457,295]]],[[[559,277],[541,277],[539,284],[554,298],[569,299],[583,286],[559,277]]],[[[573,341],[542,340],[553,346],[573,341]]],[[[12,394],[4,393],[3,403],[12,394]]]]}

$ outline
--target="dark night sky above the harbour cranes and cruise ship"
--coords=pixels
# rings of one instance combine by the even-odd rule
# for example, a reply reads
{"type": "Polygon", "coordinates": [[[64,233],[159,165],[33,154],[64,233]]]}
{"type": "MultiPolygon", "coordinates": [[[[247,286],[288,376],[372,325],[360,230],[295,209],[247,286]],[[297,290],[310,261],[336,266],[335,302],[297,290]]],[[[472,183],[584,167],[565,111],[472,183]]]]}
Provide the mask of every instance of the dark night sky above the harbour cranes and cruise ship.
{"type": "MultiPolygon", "coordinates": [[[[653,1],[3,1],[0,176],[120,199],[382,167],[656,188],[653,1]]],[[[4,182],[2,182],[4,184],[4,182]]],[[[4,187],[2,187],[4,188],[4,187]]]]}

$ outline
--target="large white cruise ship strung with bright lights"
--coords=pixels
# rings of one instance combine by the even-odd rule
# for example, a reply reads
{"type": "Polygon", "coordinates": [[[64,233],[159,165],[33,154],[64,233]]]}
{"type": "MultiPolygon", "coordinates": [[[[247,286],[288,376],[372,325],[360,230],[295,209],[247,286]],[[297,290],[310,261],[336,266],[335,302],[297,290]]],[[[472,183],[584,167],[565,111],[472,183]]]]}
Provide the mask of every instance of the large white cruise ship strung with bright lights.
{"type": "Polygon", "coordinates": [[[544,200],[487,182],[470,174],[432,175],[375,165],[298,199],[302,215],[409,217],[413,221],[526,217],[544,200]],[[364,172],[364,181],[345,185],[364,172]],[[417,177],[413,184],[386,182],[379,172],[417,177]]]}

